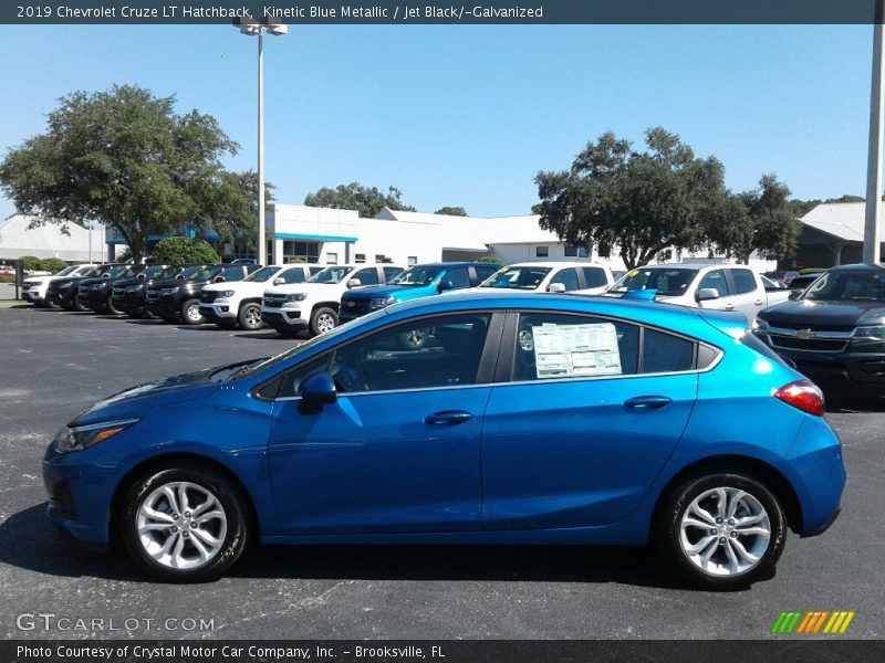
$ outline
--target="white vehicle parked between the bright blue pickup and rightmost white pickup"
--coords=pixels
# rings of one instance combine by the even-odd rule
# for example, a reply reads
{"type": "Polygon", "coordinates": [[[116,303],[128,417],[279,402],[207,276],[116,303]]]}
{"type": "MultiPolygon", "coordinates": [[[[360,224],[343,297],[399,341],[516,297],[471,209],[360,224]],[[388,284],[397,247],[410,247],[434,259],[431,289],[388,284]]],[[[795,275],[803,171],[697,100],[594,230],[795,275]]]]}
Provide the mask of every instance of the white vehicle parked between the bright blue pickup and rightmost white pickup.
{"type": "Polygon", "coordinates": [[[581,293],[597,295],[615,282],[605,265],[579,262],[519,263],[501,267],[483,281],[481,292],[581,293]]]}

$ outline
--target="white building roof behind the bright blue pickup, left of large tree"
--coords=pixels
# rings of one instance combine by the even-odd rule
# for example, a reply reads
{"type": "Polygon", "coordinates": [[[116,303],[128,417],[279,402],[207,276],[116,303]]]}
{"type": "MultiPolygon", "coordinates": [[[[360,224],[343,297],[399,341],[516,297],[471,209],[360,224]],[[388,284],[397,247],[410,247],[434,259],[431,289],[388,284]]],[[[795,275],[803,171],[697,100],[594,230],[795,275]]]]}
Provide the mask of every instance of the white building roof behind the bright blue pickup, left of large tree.
{"type": "Polygon", "coordinates": [[[559,242],[556,233],[542,230],[541,217],[452,217],[427,212],[403,212],[384,208],[378,219],[408,223],[436,223],[442,229],[442,246],[461,251],[488,251],[494,244],[548,244],[559,242]]]}

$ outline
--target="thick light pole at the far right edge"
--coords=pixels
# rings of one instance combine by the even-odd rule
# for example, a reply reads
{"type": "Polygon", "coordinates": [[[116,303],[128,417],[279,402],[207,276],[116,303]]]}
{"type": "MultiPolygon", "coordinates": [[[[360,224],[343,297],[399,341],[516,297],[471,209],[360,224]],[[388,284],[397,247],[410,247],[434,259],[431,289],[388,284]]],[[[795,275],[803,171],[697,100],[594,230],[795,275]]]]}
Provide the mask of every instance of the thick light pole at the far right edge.
{"type": "Polygon", "coordinates": [[[876,24],[873,29],[873,81],[870,94],[870,152],[866,164],[866,220],[864,224],[864,263],[879,262],[882,243],[882,128],[883,128],[883,10],[885,0],[876,1],[876,24]]]}

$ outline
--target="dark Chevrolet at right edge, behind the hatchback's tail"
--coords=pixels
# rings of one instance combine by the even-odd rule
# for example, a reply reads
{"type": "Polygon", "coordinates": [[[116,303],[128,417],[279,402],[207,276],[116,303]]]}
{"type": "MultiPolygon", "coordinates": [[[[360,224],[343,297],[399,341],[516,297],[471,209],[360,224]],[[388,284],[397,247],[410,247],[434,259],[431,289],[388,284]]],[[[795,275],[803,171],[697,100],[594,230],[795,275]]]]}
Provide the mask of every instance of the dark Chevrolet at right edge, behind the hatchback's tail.
{"type": "Polygon", "coordinates": [[[843,265],[764,308],[757,335],[821,387],[885,396],[885,269],[843,265]]]}

